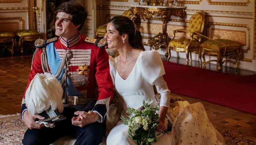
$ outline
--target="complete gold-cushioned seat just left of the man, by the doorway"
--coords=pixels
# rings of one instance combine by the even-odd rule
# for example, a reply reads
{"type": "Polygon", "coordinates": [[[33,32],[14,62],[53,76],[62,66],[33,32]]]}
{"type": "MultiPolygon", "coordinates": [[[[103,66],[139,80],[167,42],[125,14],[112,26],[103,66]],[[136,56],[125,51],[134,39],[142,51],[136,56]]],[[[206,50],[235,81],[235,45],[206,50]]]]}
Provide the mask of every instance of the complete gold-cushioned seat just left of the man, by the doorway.
{"type": "MultiPolygon", "coordinates": [[[[19,38],[19,46],[21,47],[20,53],[23,54],[23,42],[29,41],[33,43],[35,40],[39,39],[39,33],[35,30],[17,30],[14,32],[16,37],[19,38]]],[[[32,45],[34,46],[34,45],[32,45]]]]}

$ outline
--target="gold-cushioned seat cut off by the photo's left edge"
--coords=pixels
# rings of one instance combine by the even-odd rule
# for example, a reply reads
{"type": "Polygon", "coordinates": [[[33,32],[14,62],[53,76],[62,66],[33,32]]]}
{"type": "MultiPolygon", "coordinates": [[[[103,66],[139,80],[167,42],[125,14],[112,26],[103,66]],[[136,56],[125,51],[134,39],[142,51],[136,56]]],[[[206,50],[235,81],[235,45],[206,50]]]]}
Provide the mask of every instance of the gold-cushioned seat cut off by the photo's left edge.
{"type": "Polygon", "coordinates": [[[0,43],[4,44],[4,48],[11,51],[14,54],[13,46],[15,44],[15,35],[12,32],[0,32],[0,43]],[[7,43],[12,43],[11,48],[7,48],[7,43]]]}

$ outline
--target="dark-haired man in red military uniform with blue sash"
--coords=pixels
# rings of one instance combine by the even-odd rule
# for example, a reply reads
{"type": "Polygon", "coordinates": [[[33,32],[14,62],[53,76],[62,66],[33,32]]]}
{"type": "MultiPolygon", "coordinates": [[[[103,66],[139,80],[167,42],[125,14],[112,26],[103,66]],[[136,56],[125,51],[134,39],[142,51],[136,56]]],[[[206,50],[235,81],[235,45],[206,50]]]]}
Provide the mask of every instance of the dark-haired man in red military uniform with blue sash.
{"type": "Polygon", "coordinates": [[[29,129],[22,142],[51,144],[61,136],[71,134],[77,140],[75,144],[98,145],[105,130],[102,122],[114,94],[108,54],[104,48],[85,43],[85,38],[80,35],[79,30],[87,17],[81,4],[61,3],[56,13],[55,34],[59,38],[47,40],[45,47],[34,53],[28,86],[38,73],[55,75],[63,88],[62,114],[67,119],[55,122],[53,128],[38,124],[35,120],[45,117],[28,113],[25,91],[21,116],[29,129]],[[91,100],[95,100],[95,104],[91,105],[91,100]]]}

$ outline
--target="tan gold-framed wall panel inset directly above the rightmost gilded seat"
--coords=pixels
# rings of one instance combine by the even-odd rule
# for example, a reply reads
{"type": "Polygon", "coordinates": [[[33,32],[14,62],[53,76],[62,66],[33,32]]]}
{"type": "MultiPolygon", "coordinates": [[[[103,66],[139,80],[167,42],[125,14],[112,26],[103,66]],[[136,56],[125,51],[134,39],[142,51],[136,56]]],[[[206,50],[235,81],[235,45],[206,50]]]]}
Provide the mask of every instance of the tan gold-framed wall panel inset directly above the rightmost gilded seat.
{"type": "Polygon", "coordinates": [[[212,39],[229,39],[246,45],[246,32],[237,30],[211,29],[212,39]]]}

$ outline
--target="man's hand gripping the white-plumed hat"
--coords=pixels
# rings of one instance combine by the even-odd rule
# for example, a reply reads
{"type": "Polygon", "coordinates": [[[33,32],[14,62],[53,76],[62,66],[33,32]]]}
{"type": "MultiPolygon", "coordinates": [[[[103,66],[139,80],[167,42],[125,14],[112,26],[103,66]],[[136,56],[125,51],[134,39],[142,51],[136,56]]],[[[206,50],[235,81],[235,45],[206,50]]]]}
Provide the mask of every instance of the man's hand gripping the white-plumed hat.
{"type": "Polygon", "coordinates": [[[43,124],[38,124],[37,122],[35,122],[35,119],[45,119],[45,118],[38,114],[30,115],[28,114],[27,110],[24,111],[23,120],[29,129],[40,129],[44,126],[43,124]]]}

